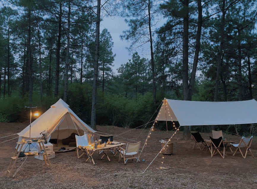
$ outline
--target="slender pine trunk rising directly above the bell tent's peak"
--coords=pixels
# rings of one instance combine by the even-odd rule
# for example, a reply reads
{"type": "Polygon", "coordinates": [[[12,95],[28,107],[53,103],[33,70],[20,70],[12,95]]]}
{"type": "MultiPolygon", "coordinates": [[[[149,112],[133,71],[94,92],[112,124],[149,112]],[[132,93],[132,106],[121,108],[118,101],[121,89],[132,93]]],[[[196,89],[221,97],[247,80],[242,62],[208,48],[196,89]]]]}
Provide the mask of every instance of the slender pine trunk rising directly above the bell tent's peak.
{"type": "Polygon", "coordinates": [[[67,28],[67,48],[66,48],[66,61],[65,61],[65,83],[64,83],[64,102],[67,102],[67,95],[68,95],[68,70],[69,70],[69,47],[70,47],[70,15],[71,15],[71,1],[69,3],[69,10],[68,10],[68,28],[67,28]]]}

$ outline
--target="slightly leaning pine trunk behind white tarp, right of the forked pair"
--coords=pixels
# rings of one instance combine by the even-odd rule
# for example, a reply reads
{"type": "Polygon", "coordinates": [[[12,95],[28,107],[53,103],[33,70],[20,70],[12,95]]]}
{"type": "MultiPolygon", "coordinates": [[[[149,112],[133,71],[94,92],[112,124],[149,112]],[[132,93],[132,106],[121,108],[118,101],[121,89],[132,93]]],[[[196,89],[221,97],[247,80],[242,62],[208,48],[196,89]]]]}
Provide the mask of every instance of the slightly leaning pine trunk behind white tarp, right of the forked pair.
{"type": "Polygon", "coordinates": [[[225,11],[225,0],[223,0],[223,1],[222,1],[222,21],[221,21],[221,27],[220,27],[220,47],[219,47],[219,54],[218,54],[217,73],[216,73],[216,80],[215,80],[215,91],[214,91],[214,99],[213,99],[213,102],[217,102],[217,101],[218,101],[220,63],[221,63],[221,56],[222,56],[222,49],[223,49],[225,15],[226,15],[226,11],[225,11]]]}

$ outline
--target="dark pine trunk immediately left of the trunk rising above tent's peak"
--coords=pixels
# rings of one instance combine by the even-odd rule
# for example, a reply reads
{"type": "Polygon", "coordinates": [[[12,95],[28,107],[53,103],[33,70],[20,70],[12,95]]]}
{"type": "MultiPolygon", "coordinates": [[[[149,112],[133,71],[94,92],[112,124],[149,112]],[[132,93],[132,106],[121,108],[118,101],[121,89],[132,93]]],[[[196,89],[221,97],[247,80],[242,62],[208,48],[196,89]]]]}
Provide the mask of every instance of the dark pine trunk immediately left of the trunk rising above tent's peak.
{"type": "Polygon", "coordinates": [[[60,50],[61,50],[61,17],[62,17],[62,1],[60,0],[58,39],[57,39],[57,46],[56,46],[56,71],[55,71],[55,88],[54,88],[54,96],[55,97],[58,97],[58,91],[59,91],[60,50]]]}

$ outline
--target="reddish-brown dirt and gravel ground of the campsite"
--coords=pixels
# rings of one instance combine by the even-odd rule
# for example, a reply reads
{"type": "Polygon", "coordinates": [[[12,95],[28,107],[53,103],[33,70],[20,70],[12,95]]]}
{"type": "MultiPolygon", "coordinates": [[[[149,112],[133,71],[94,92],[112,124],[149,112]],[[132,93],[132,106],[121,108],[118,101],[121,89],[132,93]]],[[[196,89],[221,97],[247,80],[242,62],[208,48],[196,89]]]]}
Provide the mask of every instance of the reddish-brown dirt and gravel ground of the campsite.
{"type": "MultiPolygon", "coordinates": [[[[28,126],[23,123],[0,123],[0,137],[15,134],[28,126]]],[[[149,129],[126,129],[115,126],[97,126],[94,139],[99,139],[99,134],[113,134],[113,139],[118,142],[142,141],[141,148],[146,140],[149,129]],[[102,133],[100,133],[102,132],[102,133]],[[125,132],[125,133],[124,133],[125,132]]],[[[0,188],[24,188],[26,183],[29,188],[257,188],[257,158],[248,152],[246,159],[238,152],[236,156],[228,150],[227,157],[223,159],[218,153],[211,157],[210,151],[199,150],[193,147],[193,139],[183,141],[183,132],[178,131],[172,137],[173,154],[156,155],[161,150],[160,140],[167,140],[174,131],[159,131],[154,129],[147,145],[143,149],[140,162],[128,160],[126,165],[118,156],[114,157],[109,152],[110,162],[106,157],[94,154],[96,162],[85,162],[86,156],[78,159],[75,151],[55,153],[55,158],[50,159],[53,169],[45,166],[44,161],[32,158],[18,161],[15,166],[14,177],[7,178],[5,172],[11,162],[15,151],[17,139],[10,140],[18,135],[0,138],[0,188]],[[147,168],[150,162],[153,163],[147,168]],[[145,160],[142,162],[142,160],[145,160]]],[[[204,139],[209,139],[211,133],[201,133],[204,139]]],[[[224,134],[225,138],[238,143],[241,136],[224,134]]],[[[251,151],[257,156],[257,138],[253,138],[251,151]]],[[[235,149],[232,148],[234,151],[235,149]]],[[[245,152],[245,149],[244,151],[245,152]]],[[[26,188],[26,187],[25,187],[26,188]]]]}

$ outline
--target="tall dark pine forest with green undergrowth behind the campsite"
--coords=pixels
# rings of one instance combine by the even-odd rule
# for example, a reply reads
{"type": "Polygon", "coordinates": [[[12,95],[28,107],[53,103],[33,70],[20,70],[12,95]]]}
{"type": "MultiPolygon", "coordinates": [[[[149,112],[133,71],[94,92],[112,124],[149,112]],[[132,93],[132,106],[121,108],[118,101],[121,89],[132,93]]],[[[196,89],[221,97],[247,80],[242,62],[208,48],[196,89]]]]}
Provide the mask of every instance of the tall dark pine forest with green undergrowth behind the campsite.
{"type": "MultiPolygon", "coordinates": [[[[255,0],[1,1],[0,122],[24,121],[28,105],[42,114],[59,98],[93,128],[144,125],[164,97],[256,99],[256,10],[255,0]],[[120,38],[132,58],[116,72],[112,36],[97,27],[104,16],[129,26],[120,38]],[[137,52],[146,50],[150,60],[137,52]]],[[[257,135],[256,124],[182,128],[189,137],[211,129],[257,135]]]]}

